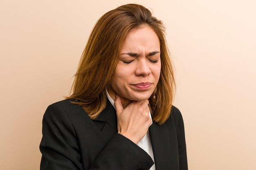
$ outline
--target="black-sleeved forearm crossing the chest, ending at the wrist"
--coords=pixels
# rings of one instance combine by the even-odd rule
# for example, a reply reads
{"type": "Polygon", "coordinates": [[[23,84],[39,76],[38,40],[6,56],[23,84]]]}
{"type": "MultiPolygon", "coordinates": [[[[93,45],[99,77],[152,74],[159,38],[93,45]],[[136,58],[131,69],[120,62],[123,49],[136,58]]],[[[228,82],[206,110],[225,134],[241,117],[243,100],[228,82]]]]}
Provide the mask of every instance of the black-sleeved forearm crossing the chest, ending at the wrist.
{"type": "Polygon", "coordinates": [[[153,164],[143,149],[117,133],[94,160],[90,170],[149,170],[153,164]]]}

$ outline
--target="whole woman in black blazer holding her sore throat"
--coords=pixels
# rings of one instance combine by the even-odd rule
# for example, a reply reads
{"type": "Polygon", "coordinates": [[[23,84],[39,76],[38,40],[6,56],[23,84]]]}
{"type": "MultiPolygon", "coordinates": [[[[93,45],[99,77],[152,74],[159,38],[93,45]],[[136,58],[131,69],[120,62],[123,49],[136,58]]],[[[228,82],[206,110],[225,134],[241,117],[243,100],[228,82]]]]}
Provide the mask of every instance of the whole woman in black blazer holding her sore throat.
{"type": "Polygon", "coordinates": [[[164,26],[126,4],[95,24],[73,93],[43,117],[41,170],[187,170],[164,26]]]}

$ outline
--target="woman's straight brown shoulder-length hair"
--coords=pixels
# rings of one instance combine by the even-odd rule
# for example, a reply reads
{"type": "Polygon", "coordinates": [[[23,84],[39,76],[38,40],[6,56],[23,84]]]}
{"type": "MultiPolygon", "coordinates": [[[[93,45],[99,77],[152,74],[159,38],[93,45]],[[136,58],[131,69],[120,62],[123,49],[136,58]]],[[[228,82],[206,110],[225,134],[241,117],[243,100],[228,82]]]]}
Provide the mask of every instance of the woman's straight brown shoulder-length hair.
{"type": "Polygon", "coordinates": [[[70,97],[77,99],[91,119],[106,107],[106,89],[115,71],[122,45],[132,29],[149,26],[160,41],[161,72],[149,98],[153,120],[163,124],[171,113],[175,81],[162,21],[139,4],[126,4],[105,13],[94,25],[83,51],[70,97]]]}

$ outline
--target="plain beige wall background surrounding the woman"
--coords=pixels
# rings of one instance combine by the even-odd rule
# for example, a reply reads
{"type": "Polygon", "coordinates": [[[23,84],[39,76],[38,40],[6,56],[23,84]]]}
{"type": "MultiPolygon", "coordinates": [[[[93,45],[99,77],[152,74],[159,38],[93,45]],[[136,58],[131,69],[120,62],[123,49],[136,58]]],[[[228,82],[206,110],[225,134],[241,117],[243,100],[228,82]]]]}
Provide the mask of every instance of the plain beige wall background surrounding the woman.
{"type": "Polygon", "coordinates": [[[190,170],[256,170],[255,0],[1,0],[0,169],[39,169],[42,117],[69,95],[103,13],[135,2],[166,25],[190,170]]]}

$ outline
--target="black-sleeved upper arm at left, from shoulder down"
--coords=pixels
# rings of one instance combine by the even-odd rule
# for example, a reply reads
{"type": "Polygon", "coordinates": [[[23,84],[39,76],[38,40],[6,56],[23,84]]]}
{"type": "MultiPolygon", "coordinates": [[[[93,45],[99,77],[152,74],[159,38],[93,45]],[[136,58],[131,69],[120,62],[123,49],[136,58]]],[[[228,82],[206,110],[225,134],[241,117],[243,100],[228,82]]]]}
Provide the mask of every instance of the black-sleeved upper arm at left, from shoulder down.
{"type": "Polygon", "coordinates": [[[40,170],[83,170],[76,133],[65,111],[53,104],[43,116],[40,170]]]}

